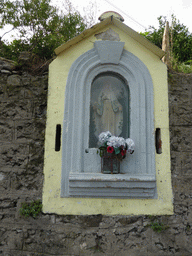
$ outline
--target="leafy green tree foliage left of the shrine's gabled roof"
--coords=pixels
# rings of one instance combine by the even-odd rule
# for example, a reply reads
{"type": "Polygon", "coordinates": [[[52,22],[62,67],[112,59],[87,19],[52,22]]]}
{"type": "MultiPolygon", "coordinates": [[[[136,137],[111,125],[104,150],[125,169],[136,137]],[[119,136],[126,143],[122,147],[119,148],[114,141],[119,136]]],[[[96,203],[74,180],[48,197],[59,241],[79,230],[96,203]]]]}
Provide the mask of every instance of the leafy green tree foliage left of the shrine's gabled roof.
{"type": "Polygon", "coordinates": [[[68,10],[64,13],[50,1],[1,0],[0,28],[11,25],[11,31],[17,31],[19,39],[11,43],[0,41],[0,56],[15,60],[25,50],[49,59],[55,48],[86,28],[84,19],[70,2],[66,2],[68,10]]]}

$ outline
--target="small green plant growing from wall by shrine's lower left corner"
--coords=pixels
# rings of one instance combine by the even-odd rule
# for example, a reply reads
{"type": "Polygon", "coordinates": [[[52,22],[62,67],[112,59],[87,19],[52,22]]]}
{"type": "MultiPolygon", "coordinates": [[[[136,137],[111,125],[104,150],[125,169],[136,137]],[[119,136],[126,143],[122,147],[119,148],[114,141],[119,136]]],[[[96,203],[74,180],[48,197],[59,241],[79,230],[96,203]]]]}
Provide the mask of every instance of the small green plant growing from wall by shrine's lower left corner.
{"type": "Polygon", "coordinates": [[[33,218],[36,218],[37,215],[41,212],[42,210],[42,204],[40,200],[33,201],[31,203],[22,203],[21,209],[20,209],[20,214],[29,217],[32,216],[33,218]]]}

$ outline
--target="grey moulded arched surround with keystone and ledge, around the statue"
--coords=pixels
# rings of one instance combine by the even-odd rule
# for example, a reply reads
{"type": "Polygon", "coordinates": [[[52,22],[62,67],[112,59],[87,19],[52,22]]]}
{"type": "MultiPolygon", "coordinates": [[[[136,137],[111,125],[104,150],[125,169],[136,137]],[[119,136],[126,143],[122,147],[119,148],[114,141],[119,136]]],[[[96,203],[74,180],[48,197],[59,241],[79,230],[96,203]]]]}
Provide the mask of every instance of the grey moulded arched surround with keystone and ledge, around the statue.
{"type": "Polygon", "coordinates": [[[153,83],[146,66],[124,43],[97,41],[71,66],[65,91],[62,136],[62,197],[154,198],[153,83]],[[102,174],[96,148],[89,148],[91,86],[101,74],[116,74],[129,90],[129,136],[135,152],[120,174],[102,174]]]}

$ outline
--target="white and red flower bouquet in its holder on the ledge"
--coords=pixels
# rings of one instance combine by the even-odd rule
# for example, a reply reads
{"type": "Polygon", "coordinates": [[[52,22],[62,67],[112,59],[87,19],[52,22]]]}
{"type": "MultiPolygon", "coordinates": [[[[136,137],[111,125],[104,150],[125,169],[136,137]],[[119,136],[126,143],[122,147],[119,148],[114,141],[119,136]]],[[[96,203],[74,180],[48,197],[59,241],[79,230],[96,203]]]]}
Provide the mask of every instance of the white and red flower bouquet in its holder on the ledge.
{"type": "Polygon", "coordinates": [[[126,153],[133,154],[135,148],[132,139],[112,136],[109,131],[99,135],[99,143],[103,173],[119,173],[120,161],[126,157],[126,153]]]}

